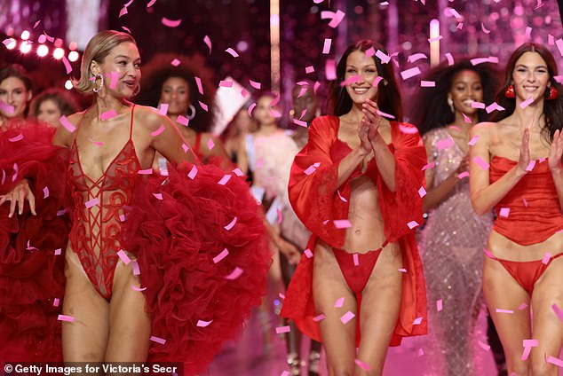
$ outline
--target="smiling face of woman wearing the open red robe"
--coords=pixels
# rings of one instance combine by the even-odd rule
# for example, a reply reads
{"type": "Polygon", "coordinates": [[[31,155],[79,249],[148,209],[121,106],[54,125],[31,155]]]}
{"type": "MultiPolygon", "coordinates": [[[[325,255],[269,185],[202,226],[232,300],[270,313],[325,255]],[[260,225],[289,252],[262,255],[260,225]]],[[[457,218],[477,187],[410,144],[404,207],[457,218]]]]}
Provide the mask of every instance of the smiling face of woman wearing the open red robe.
{"type": "Polygon", "coordinates": [[[377,78],[376,62],[362,51],[353,51],[346,59],[344,80],[346,91],[353,103],[361,104],[366,99],[377,98],[377,86],[373,86],[377,78]]]}

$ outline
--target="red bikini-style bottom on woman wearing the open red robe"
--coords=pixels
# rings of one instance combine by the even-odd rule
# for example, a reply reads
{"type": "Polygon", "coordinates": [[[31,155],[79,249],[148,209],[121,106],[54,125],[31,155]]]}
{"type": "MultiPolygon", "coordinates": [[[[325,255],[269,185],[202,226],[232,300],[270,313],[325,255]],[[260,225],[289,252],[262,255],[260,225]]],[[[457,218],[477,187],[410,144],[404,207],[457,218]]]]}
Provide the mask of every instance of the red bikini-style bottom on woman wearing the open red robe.
{"type": "Polygon", "coordinates": [[[346,284],[356,297],[361,297],[361,292],[368,284],[369,277],[371,276],[373,268],[376,266],[379,254],[381,254],[381,251],[387,243],[388,241],[385,240],[381,247],[368,251],[365,254],[351,254],[344,249],[332,248],[340,270],[346,280],[346,284]]]}

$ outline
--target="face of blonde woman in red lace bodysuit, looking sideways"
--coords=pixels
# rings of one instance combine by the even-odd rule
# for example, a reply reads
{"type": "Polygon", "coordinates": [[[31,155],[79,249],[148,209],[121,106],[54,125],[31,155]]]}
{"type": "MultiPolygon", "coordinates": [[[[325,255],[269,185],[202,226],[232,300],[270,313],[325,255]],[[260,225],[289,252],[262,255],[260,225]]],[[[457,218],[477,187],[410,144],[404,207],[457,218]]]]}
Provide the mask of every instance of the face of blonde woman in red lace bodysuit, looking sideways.
{"type": "MultiPolygon", "coordinates": [[[[137,45],[131,42],[117,44],[101,64],[91,62],[92,74],[103,74],[104,88],[115,98],[130,98],[140,82],[140,56],[137,45]]],[[[99,82],[96,82],[96,86],[99,82]]]]}

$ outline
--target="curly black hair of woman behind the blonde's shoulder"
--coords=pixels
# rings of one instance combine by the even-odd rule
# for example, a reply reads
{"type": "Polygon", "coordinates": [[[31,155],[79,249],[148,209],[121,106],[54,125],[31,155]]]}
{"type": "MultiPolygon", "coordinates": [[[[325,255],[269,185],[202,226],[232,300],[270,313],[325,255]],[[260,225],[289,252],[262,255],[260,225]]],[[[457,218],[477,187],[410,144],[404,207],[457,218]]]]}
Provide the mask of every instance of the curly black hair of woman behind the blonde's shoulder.
{"type": "Polygon", "coordinates": [[[217,89],[213,83],[213,72],[206,67],[205,59],[201,55],[157,54],[144,65],[142,71],[141,90],[136,100],[139,105],[158,106],[163,83],[170,77],[182,78],[186,80],[189,88],[190,104],[195,107],[195,117],[190,120],[189,128],[198,133],[209,131],[215,111],[213,101],[217,89]],[[180,62],[177,67],[171,64],[174,59],[180,62]],[[195,77],[202,81],[203,94],[200,94],[197,88],[195,77]],[[208,111],[203,110],[198,101],[207,105],[208,111]]]}

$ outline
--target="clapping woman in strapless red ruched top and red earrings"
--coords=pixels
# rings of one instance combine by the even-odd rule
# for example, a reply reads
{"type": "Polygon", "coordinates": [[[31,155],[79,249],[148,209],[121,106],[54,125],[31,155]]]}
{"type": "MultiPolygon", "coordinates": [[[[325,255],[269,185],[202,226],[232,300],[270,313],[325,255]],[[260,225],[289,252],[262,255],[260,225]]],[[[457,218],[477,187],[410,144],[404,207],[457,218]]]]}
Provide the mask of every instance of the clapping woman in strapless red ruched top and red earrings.
{"type": "Polygon", "coordinates": [[[550,51],[519,46],[496,96],[504,110],[472,135],[472,205],[497,216],[483,292],[509,374],[557,374],[563,345],[563,99],[555,75],[550,51]]]}

